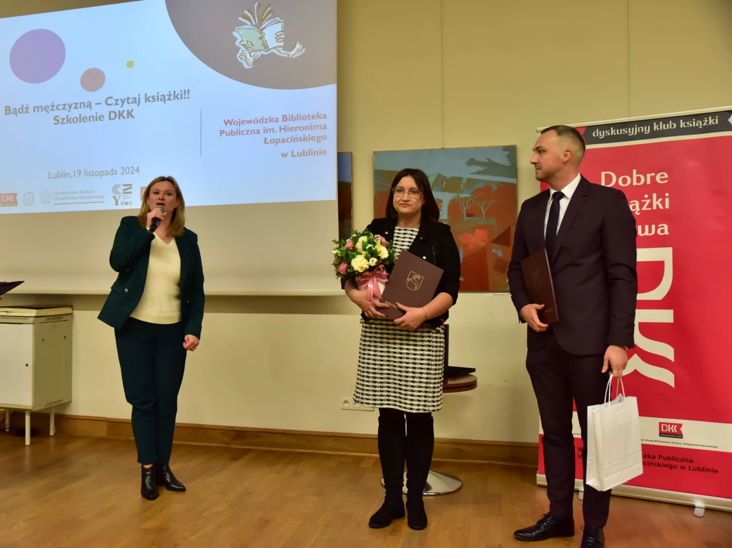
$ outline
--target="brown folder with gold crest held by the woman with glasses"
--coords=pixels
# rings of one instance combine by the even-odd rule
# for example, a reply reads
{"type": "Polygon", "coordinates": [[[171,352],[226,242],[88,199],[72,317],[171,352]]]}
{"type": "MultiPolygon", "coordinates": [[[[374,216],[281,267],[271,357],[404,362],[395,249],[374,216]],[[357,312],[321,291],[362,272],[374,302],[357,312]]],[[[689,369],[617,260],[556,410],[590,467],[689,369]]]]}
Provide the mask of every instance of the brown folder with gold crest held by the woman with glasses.
{"type": "Polygon", "coordinates": [[[397,303],[411,307],[430,303],[442,278],[442,272],[441,268],[414,253],[402,251],[381,295],[389,308],[379,308],[378,311],[384,316],[397,319],[404,315],[397,308],[397,303]]]}

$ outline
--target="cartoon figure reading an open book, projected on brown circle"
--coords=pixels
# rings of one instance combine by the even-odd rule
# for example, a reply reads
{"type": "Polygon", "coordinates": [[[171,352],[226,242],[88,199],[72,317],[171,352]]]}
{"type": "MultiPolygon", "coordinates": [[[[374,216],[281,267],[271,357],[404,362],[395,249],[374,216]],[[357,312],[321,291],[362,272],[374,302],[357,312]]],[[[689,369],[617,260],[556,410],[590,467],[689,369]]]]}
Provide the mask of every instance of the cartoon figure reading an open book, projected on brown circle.
{"type": "Polygon", "coordinates": [[[294,59],[305,52],[305,46],[300,42],[291,51],[285,51],[285,22],[275,17],[272,6],[263,10],[261,4],[256,2],[254,10],[244,10],[244,15],[239,20],[245,24],[234,29],[234,36],[236,45],[239,46],[238,59],[244,68],[252,68],[260,56],[269,53],[294,59]]]}

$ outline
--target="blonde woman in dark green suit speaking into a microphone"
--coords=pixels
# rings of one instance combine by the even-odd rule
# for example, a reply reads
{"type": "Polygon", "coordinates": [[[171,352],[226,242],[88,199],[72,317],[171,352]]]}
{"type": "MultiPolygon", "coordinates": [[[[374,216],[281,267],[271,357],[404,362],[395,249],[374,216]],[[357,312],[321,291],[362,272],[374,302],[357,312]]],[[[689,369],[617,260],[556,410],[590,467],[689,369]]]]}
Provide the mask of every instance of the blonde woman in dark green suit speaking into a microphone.
{"type": "Polygon", "coordinates": [[[99,319],[114,327],[124,396],[142,464],[141,495],[185,491],[169,462],[186,352],[201,338],[203,267],[198,237],[185,228],[173,177],[153,179],[136,217],[124,217],[109,263],[119,273],[99,319]]]}

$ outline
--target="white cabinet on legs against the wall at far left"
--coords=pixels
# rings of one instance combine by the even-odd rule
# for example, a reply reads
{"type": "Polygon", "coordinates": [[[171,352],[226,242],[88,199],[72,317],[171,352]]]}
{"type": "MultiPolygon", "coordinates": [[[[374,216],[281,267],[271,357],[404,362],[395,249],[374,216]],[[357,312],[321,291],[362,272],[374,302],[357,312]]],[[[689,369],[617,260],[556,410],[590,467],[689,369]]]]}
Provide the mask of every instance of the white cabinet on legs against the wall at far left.
{"type": "Polygon", "coordinates": [[[71,401],[70,308],[0,308],[0,409],[26,411],[26,445],[30,412],[71,401]],[[26,314],[26,315],[21,315],[26,314]],[[32,315],[31,315],[32,314],[32,315]]]}

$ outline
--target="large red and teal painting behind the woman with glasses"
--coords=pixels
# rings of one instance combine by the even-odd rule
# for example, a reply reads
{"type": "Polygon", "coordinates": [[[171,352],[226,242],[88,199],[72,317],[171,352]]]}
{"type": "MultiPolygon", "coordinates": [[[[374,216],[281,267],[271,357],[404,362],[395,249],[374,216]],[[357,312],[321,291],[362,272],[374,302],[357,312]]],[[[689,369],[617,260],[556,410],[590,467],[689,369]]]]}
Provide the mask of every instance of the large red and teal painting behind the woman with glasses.
{"type": "Polygon", "coordinates": [[[508,291],[516,226],[516,147],[374,152],[374,217],[384,217],[395,175],[419,168],[430,179],[440,221],[460,250],[460,290],[508,291]]]}

